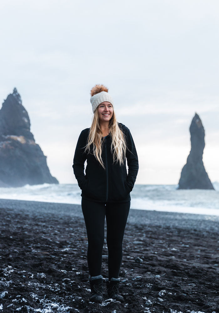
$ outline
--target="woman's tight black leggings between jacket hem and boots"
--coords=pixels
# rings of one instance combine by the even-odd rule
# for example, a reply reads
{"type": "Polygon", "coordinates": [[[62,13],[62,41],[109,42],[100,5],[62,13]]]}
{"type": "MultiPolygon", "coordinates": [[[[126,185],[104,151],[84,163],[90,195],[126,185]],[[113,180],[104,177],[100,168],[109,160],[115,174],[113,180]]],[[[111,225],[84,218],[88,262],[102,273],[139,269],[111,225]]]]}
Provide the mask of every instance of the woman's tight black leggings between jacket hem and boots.
{"type": "Polygon", "coordinates": [[[112,277],[118,278],[122,263],[122,241],[129,215],[130,201],[103,203],[82,198],[81,207],[88,237],[87,260],[90,276],[101,274],[106,216],[109,280],[112,277]]]}

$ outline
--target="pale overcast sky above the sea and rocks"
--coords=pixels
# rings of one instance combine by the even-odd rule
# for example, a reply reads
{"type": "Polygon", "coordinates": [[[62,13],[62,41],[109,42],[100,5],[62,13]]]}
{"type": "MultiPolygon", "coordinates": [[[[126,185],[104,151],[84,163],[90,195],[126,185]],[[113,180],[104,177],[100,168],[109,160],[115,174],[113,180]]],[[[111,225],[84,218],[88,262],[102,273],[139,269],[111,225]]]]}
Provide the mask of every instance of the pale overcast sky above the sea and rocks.
{"type": "Polygon", "coordinates": [[[219,181],[218,16],[216,0],[2,0],[0,102],[17,88],[61,183],[76,183],[74,150],[91,125],[93,85],[109,88],[132,133],[138,184],[178,183],[197,112],[205,168],[219,181]]]}

